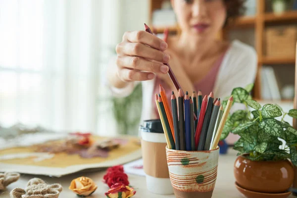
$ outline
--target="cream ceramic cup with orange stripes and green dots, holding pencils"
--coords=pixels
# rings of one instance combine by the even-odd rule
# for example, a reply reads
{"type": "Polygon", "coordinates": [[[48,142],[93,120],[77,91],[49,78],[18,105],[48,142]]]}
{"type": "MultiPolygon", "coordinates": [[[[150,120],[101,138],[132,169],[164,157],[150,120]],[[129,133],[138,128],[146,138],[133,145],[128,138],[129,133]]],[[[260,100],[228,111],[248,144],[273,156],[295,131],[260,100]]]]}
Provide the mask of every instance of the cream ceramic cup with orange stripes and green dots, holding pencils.
{"type": "Polygon", "coordinates": [[[219,147],[186,151],[166,146],[166,157],[176,198],[211,198],[217,177],[219,147]]]}

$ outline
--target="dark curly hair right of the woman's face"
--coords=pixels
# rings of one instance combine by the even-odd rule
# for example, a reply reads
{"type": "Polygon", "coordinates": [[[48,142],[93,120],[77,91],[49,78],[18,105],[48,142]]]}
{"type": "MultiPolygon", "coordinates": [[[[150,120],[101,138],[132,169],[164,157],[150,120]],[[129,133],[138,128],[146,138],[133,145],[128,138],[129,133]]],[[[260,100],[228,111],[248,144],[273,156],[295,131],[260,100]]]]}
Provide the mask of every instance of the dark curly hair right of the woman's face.
{"type": "Polygon", "coordinates": [[[246,0],[224,0],[227,8],[227,18],[225,25],[228,25],[237,17],[245,13],[246,7],[244,6],[246,0]]]}

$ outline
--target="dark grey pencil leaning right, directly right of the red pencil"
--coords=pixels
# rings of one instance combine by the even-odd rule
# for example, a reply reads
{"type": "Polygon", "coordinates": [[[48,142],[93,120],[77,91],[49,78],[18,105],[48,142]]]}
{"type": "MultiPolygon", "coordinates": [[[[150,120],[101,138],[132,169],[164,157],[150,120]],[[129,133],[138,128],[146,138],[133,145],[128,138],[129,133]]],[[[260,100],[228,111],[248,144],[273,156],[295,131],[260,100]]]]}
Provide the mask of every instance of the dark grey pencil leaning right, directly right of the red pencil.
{"type": "Polygon", "coordinates": [[[198,142],[198,150],[203,150],[205,145],[206,134],[209,126],[211,111],[213,106],[213,94],[212,92],[209,94],[207,107],[204,115],[203,125],[200,133],[200,138],[198,142]]]}

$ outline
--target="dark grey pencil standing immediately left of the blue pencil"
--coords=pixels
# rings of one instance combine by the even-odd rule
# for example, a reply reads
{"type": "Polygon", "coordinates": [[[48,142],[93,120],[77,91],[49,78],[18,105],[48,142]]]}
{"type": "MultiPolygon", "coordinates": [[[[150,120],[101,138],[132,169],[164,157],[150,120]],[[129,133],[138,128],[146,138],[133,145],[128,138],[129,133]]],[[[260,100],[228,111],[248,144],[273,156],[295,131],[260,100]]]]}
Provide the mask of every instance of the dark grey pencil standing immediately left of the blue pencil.
{"type": "Polygon", "coordinates": [[[181,150],[186,150],[184,96],[183,96],[182,90],[178,91],[178,112],[179,112],[179,130],[180,130],[181,150]]]}

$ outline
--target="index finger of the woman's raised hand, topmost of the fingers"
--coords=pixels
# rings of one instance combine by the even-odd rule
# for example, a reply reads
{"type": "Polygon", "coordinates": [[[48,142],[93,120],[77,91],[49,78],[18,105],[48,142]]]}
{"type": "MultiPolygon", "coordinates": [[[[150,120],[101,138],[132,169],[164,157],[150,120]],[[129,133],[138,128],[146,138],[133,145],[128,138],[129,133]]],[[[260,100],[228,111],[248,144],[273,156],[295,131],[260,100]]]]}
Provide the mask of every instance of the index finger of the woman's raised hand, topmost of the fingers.
{"type": "Polygon", "coordinates": [[[148,45],[151,48],[162,50],[162,51],[164,51],[168,47],[167,43],[164,42],[162,39],[146,31],[126,32],[123,38],[131,43],[141,43],[144,45],[148,45]]]}

